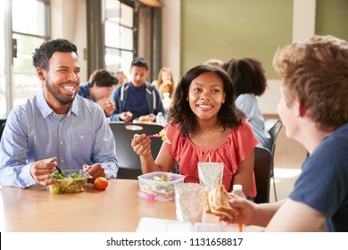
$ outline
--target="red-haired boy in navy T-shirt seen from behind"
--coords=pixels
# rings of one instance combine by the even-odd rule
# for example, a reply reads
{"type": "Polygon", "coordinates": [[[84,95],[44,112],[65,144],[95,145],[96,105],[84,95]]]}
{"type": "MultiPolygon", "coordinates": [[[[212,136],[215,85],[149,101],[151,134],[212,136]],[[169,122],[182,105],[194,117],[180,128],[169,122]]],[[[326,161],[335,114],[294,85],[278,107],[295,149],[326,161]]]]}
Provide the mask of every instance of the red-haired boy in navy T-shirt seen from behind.
{"type": "Polygon", "coordinates": [[[273,65],[281,77],[278,113],[286,136],[311,154],[290,196],[275,204],[234,198],[234,222],[266,231],[348,231],[348,42],[314,36],[279,49],[273,65]]]}

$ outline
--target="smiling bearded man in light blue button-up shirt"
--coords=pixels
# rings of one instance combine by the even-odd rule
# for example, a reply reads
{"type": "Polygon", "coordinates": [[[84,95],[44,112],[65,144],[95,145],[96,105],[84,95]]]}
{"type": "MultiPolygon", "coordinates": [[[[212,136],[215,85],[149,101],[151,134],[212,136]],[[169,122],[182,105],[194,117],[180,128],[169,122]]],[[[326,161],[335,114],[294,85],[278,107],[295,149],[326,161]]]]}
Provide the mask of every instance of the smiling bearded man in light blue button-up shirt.
{"type": "Polygon", "coordinates": [[[43,89],[9,114],[0,143],[0,185],[54,182],[55,166],[80,168],[94,182],[116,178],[112,130],[100,106],[78,96],[77,47],[56,39],[36,49],[33,64],[43,89]]]}

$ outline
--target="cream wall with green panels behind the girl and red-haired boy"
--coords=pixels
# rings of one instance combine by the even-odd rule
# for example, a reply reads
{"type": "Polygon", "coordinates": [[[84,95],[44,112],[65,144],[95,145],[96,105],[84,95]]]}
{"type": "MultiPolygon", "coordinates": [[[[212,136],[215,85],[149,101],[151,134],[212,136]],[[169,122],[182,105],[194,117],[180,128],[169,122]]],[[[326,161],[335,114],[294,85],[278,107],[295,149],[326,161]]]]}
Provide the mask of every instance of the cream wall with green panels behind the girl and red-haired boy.
{"type": "Polygon", "coordinates": [[[272,67],[279,46],[314,34],[348,39],[346,0],[189,0],[181,4],[181,74],[210,58],[256,57],[269,79],[269,88],[258,97],[266,114],[276,114],[280,100],[280,82],[272,67]]]}

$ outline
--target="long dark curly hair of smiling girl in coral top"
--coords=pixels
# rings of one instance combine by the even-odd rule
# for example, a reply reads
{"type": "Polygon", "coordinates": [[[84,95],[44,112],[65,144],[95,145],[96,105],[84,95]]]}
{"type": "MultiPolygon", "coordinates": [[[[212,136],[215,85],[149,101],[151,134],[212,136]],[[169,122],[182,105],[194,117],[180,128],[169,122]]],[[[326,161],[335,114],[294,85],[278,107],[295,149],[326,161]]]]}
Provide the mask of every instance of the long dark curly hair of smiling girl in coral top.
{"type": "Polygon", "coordinates": [[[218,112],[220,125],[224,129],[236,129],[244,118],[244,113],[236,107],[235,88],[228,74],[218,67],[198,65],[187,71],[179,81],[173,103],[170,106],[170,122],[173,125],[179,124],[180,131],[185,137],[188,137],[189,134],[195,134],[198,130],[195,113],[192,112],[189,102],[186,100],[188,89],[195,78],[207,72],[217,75],[223,82],[223,91],[226,97],[225,103],[221,105],[220,111],[218,112]]]}

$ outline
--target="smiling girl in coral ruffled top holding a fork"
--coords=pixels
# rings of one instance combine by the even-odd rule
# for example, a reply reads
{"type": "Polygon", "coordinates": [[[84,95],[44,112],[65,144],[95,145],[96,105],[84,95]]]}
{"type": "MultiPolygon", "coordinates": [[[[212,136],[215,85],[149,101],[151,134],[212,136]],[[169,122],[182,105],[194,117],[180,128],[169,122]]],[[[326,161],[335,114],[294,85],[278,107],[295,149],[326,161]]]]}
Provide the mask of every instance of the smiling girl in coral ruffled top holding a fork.
{"type": "Polygon", "coordinates": [[[156,161],[150,138],[136,135],[134,151],[140,155],[142,171],[178,171],[186,182],[199,182],[198,162],[224,162],[222,184],[231,191],[242,184],[246,196],[256,196],[253,149],[258,141],[244,114],[235,105],[235,89],[220,68],[199,65],[180,80],[165,126],[170,143],[164,142],[156,161]]]}

